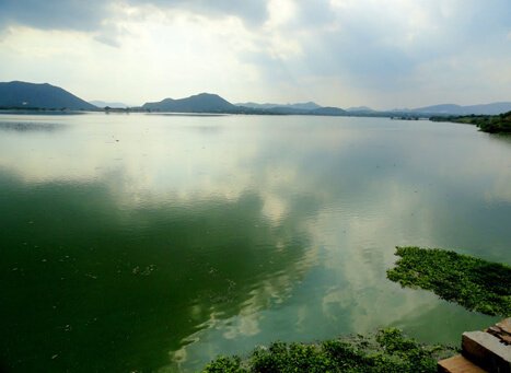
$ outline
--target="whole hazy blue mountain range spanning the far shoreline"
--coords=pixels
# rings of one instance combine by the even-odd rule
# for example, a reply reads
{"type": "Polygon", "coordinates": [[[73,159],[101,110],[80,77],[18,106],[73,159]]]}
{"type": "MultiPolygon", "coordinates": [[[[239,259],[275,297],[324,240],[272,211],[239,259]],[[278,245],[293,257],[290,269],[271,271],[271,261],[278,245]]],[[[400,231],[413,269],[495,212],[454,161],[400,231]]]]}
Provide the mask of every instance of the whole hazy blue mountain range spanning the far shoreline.
{"type": "Polygon", "coordinates": [[[367,106],[350,107],[345,110],[339,107],[320,106],[314,102],[297,104],[257,104],[247,102],[234,105],[218,94],[200,93],[185,98],[165,98],[160,102],[146,103],[139,107],[128,108],[127,105],[115,102],[93,101],[88,103],[61,88],[47,83],[35,84],[20,81],[0,83],[0,109],[100,110],[105,107],[132,112],[418,117],[471,114],[495,115],[511,112],[511,102],[471,106],[443,104],[413,109],[378,112],[367,106]]]}

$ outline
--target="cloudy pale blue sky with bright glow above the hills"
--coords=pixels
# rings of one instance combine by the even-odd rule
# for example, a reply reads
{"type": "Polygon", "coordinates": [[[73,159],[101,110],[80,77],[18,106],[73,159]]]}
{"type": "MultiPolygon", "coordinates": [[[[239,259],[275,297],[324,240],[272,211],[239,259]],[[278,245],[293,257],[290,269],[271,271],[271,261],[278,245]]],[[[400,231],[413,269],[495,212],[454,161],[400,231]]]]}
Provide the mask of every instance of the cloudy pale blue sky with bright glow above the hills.
{"type": "Polygon", "coordinates": [[[509,0],[0,0],[0,81],[141,105],[511,101],[509,0]]]}

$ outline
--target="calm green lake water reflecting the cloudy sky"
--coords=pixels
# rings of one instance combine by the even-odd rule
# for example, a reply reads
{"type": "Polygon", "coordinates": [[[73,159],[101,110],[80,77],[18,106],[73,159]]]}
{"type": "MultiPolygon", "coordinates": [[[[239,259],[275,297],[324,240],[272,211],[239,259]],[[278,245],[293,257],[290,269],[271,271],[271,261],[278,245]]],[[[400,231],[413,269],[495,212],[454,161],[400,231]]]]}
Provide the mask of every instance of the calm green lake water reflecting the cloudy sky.
{"type": "Polygon", "coordinates": [[[196,371],[496,318],[385,278],[396,245],[511,264],[511,140],[305,116],[0,116],[0,370],[196,371]]]}

